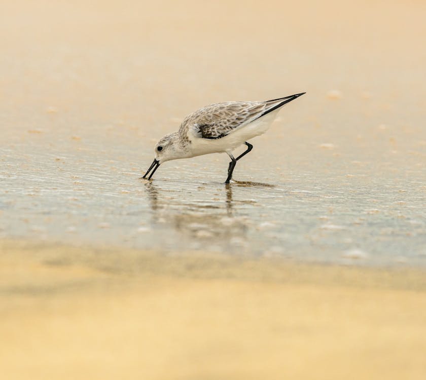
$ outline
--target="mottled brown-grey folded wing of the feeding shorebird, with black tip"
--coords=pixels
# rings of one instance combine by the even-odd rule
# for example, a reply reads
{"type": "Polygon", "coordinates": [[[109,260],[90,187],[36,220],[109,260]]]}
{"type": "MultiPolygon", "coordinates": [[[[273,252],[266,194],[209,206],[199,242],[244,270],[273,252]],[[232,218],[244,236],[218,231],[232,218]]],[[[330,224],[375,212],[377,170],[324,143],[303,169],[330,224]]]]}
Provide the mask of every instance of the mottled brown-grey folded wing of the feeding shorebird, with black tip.
{"type": "Polygon", "coordinates": [[[211,104],[191,113],[183,121],[180,133],[185,137],[218,139],[229,135],[267,113],[296,99],[297,95],[263,102],[227,102],[211,104]]]}

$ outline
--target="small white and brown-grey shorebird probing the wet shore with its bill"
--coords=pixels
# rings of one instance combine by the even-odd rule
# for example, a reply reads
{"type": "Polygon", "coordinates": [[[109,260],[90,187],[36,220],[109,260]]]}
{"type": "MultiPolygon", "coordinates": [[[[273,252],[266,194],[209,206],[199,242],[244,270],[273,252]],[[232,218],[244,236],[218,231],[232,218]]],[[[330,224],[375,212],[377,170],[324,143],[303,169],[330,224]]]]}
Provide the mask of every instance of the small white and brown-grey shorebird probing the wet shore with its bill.
{"type": "Polygon", "coordinates": [[[247,140],[264,134],[279,109],[303,94],[263,102],[217,103],[200,108],[184,119],[179,131],[158,141],[154,149],[155,159],[142,178],[152,170],[148,177],[151,179],[160,164],[166,161],[226,152],[231,158],[225,181],[229,183],[237,161],[253,148],[247,140]],[[247,149],[234,158],[232,151],[241,144],[247,145],[247,149]]]}

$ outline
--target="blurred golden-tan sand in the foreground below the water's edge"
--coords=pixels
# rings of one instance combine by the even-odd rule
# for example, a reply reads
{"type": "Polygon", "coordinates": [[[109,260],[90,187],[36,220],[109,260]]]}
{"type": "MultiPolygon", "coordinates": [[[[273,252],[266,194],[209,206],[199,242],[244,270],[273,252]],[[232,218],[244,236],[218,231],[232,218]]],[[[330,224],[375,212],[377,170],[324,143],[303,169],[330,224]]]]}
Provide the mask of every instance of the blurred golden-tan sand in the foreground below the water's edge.
{"type": "Polygon", "coordinates": [[[3,241],[7,379],[423,379],[416,270],[3,241]]]}

